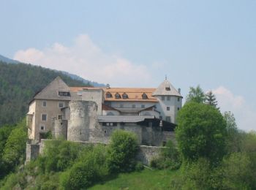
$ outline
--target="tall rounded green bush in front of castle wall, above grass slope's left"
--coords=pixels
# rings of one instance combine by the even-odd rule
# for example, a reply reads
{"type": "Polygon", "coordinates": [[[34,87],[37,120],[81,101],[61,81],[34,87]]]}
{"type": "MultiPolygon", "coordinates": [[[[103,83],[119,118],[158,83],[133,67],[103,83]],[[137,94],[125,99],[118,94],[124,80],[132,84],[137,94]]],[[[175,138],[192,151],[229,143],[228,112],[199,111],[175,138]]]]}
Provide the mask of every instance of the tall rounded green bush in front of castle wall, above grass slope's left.
{"type": "Polygon", "coordinates": [[[116,130],[111,135],[108,148],[108,167],[110,172],[129,172],[135,168],[135,155],[138,140],[134,133],[116,130]]]}

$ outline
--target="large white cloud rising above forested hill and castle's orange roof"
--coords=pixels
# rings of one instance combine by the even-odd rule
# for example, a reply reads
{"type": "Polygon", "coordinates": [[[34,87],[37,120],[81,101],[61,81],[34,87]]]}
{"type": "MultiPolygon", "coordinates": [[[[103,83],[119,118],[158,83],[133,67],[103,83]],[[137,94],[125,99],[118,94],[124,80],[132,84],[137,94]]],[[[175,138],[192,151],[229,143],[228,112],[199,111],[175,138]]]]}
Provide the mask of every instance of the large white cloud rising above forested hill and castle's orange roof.
{"type": "Polygon", "coordinates": [[[145,65],[104,53],[85,34],[78,36],[70,47],[55,43],[44,50],[18,50],[14,59],[64,70],[111,86],[146,86],[151,83],[151,73],[145,65]]]}

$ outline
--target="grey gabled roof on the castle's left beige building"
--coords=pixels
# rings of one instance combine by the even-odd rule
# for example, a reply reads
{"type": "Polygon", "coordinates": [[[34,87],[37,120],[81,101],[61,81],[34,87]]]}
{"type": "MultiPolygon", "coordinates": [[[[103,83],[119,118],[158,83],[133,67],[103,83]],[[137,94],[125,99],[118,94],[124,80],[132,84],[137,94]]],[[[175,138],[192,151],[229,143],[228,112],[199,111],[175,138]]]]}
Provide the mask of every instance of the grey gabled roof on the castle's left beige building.
{"type": "Polygon", "coordinates": [[[59,91],[69,92],[69,86],[61,80],[61,77],[56,77],[48,86],[39,91],[34,96],[34,99],[59,99],[59,100],[70,100],[70,96],[59,96],[59,91]]]}

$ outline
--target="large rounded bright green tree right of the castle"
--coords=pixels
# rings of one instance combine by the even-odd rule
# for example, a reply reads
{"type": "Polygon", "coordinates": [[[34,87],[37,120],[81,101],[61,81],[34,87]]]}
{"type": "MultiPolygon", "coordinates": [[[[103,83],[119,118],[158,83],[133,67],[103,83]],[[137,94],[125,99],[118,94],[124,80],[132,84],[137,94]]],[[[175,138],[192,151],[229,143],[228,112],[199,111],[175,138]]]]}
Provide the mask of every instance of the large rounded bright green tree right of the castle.
{"type": "Polygon", "coordinates": [[[225,155],[226,122],[219,110],[207,104],[188,102],[178,113],[176,140],[185,161],[200,157],[211,163],[225,155]]]}

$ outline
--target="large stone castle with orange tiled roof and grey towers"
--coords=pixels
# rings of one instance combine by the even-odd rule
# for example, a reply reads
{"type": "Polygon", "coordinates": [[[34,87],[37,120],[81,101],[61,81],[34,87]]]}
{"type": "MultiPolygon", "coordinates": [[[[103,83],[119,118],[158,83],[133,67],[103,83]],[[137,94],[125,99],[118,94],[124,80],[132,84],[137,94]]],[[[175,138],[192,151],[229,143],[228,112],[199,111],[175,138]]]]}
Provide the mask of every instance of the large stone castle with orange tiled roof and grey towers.
{"type": "Polygon", "coordinates": [[[173,139],[182,105],[165,80],[158,88],[69,87],[60,77],[29,103],[29,139],[39,142],[49,131],[66,140],[108,143],[115,129],[138,135],[140,145],[159,146],[173,139]]]}

